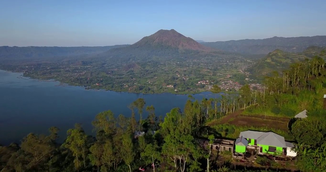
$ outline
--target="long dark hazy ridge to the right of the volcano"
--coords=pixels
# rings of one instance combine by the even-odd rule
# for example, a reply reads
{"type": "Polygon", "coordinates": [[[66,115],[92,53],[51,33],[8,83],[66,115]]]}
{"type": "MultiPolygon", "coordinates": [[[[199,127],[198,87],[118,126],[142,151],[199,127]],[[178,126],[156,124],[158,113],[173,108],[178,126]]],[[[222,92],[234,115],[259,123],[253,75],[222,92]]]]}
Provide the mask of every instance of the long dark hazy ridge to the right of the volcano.
{"type": "Polygon", "coordinates": [[[277,37],[203,42],[202,45],[240,54],[268,54],[276,49],[302,52],[309,46],[326,46],[326,36],[277,37]]]}

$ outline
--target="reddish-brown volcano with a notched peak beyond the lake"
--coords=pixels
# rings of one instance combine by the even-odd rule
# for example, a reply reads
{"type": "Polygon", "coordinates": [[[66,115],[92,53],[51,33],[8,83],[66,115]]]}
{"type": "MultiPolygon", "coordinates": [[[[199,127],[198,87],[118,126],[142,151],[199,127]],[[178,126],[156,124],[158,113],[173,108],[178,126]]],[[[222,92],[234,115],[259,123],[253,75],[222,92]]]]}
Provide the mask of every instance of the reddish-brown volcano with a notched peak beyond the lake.
{"type": "Polygon", "coordinates": [[[111,62],[150,61],[154,57],[159,60],[181,58],[200,58],[216,53],[215,49],[205,47],[190,37],[178,33],[174,29],[159,30],[155,34],[145,36],[138,42],[121,48],[108,50],[97,57],[110,59],[111,62]]]}

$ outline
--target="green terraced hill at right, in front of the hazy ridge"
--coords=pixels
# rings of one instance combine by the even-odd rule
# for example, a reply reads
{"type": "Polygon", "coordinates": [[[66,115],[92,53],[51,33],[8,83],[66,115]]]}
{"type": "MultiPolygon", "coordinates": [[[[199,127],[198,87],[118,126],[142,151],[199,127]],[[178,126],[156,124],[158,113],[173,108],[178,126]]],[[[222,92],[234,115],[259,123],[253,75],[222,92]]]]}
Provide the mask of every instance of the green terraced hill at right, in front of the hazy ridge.
{"type": "Polygon", "coordinates": [[[304,59],[310,59],[325,50],[325,47],[318,46],[310,46],[300,53],[274,50],[268,53],[264,58],[259,59],[259,61],[249,67],[247,71],[257,76],[266,75],[273,71],[282,72],[283,70],[289,69],[291,64],[304,61],[304,59]]]}

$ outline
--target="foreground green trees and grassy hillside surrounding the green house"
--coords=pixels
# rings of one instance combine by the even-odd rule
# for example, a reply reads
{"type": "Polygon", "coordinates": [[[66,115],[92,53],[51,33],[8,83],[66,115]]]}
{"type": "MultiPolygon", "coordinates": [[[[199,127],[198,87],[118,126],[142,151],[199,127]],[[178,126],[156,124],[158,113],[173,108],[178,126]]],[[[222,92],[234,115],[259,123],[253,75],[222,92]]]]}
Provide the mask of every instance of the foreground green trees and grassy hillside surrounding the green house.
{"type": "MultiPolygon", "coordinates": [[[[291,65],[282,76],[266,77],[267,88],[254,91],[244,85],[239,96],[194,101],[183,112],[171,109],[155,116],[155,107],[140,98],[129,108],[131,117],[110,110],[96,115],[95,136],[80,124],[67,131],[63,144],[56,143],[58,128],[48,136],[29,134],[18,144],[0,148],[1,172],[92,171],[326,171],[326,65],[314,57],[291,65]],[[307,110],[307,118],[294,116],[307,110]],[[149,112],[147,118],[143,111],[149,112]],[[137,116],[137,117],[136,117],[137,116]],[[140,119],[139,121],[136,119],[140,119]],[[237,138],[241,131],[273,131],[294,142],[293,159],[275,160],[275,154],[254,162],[232,158],[232,152],[211,151],[215,138],[237,138]],[[142,133],[144,132],[144,133],[142,133]],[[272,157],[272,158],[269,158],[272,157]]],[[[220,92],[219,87],[212,89],[220,92]]]]}

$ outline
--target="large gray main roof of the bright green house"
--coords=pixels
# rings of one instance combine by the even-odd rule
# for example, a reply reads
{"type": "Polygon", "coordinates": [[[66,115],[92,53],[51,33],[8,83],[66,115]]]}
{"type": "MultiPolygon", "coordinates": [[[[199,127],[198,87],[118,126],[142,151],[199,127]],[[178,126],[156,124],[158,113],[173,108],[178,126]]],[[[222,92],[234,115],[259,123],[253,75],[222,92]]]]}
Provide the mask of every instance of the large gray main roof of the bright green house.
{"type": "Polygon", "coordinates": [[[286,143],[283,136],[280,136],[273,132],[261,132],[261,131],[243,131],[240,132],[239,137],[257,139],[259,145],[269,145],[286,148],[286,143]]]}

